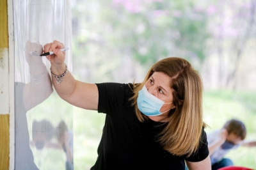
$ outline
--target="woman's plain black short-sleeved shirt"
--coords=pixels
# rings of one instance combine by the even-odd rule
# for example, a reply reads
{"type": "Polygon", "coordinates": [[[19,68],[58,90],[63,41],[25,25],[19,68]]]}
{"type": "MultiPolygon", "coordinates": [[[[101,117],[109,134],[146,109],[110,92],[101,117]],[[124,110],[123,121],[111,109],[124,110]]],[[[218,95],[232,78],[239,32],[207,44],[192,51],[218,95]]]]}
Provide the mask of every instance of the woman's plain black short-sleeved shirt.
{"type": "Polygon", "coordinates": [[[133,93],[128,84],[102,83],[97,84],[97,87],[98,112],[106,113],[106,121],[98,158],[91,169],[177,170],[185,169],[185,159],[198,162],[209,155],[204,130],[198,151],[190,157],[177,157],[163,150],[155,136],[166,124],[150,119],[143,123],[138,120],[129,101],[133,93]]]}

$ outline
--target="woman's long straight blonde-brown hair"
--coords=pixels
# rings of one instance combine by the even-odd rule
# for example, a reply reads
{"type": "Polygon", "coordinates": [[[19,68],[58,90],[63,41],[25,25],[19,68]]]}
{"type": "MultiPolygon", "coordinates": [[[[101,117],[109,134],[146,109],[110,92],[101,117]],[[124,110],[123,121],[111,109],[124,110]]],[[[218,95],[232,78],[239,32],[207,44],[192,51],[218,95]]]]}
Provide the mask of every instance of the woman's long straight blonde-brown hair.
{"type": "Polygon", "coordinates": [[[197,151],[202,129],[206,126],[202,113],[203,84],[200,74],[182,58],[165,58],[155,63],[148,70],[143,82],[133,84],[132,105],[141,122],[148,118],[138,109],[138,92],[154,72],[163,72],[170,77],[175,105],[175,109],[170,110],[168,114],[168,124],[161,134],[157,135],[157,141],[162,144],[164,150],[173,155],[189,156],[197,151]]]}

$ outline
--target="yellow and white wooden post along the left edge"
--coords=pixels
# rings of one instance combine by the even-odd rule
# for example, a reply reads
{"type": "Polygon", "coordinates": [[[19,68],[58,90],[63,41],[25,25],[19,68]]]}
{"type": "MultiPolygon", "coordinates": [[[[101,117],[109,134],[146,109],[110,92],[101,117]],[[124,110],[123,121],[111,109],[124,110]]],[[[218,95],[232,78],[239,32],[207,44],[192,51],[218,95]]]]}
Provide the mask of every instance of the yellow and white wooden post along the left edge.
{"type": "Polygon", "coordinates": [[[0,169],[9,169],[9,62],[7,0],[0,1],[0,169]]]}

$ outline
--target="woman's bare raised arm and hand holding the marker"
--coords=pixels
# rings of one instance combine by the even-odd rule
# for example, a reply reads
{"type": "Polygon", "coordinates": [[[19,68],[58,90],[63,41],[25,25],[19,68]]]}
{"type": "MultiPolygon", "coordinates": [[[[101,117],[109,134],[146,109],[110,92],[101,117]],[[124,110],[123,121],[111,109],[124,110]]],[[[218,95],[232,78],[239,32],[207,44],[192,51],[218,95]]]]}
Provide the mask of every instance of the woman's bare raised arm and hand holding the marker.
{"type": "Polygon", "coordinates": [[[72,74],[66,70],[65,52],[63,43],[54,41],[44,45],[44,52],[52,51],[54,54],[46,56],[51,62],[51,72],[54,75],[63,75],[62,81],[57,81],[52,75],[52,84],[58,95],[72,105],[83,109],[97,110],[99,93],[96,84],[77,81],[72,74]],[[67,73],[66,73],[67,72],[67,73]],[[58,83],[60,82],[60,83],[58,83]]]}

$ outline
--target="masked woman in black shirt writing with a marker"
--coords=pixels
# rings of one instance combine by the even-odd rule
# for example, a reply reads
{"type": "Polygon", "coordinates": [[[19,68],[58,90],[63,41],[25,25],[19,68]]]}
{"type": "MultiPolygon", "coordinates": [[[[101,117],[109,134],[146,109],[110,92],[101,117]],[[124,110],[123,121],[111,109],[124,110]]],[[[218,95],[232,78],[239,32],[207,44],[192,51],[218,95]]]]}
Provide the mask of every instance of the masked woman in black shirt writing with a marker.
{"type": "Polygon", "coordinates": [[[106,113],[92,169],[210,169],[202,120],[202,81],[185,59],[153,65],[140,84],[76,81],[63,43],[44,46],[58,95],[72,105],[106,113]]]}

